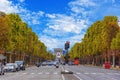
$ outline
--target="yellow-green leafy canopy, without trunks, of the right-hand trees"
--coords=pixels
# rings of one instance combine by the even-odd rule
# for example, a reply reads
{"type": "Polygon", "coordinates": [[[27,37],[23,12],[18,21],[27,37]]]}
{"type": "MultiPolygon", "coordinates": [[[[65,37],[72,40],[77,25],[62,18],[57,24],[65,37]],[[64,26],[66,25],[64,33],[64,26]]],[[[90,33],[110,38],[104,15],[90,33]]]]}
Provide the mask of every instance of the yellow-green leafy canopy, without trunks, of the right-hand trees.
{"type": "Polygon", "coordinates": [[[112,48],[115,47],[115,44],[118,46],[120,38],[118,37],[119,34],[117,34],[119,31],[117,21],[116,16],[106,16],[102,21],[93,23],[86,31],[82,42],[76,43],[72,47],[70,56],[73,56],[73,58],[79,56],[81,58],[99,55],[103,52],[107,53],[107,51],[111,49],[112,40],[112,48]]]}

